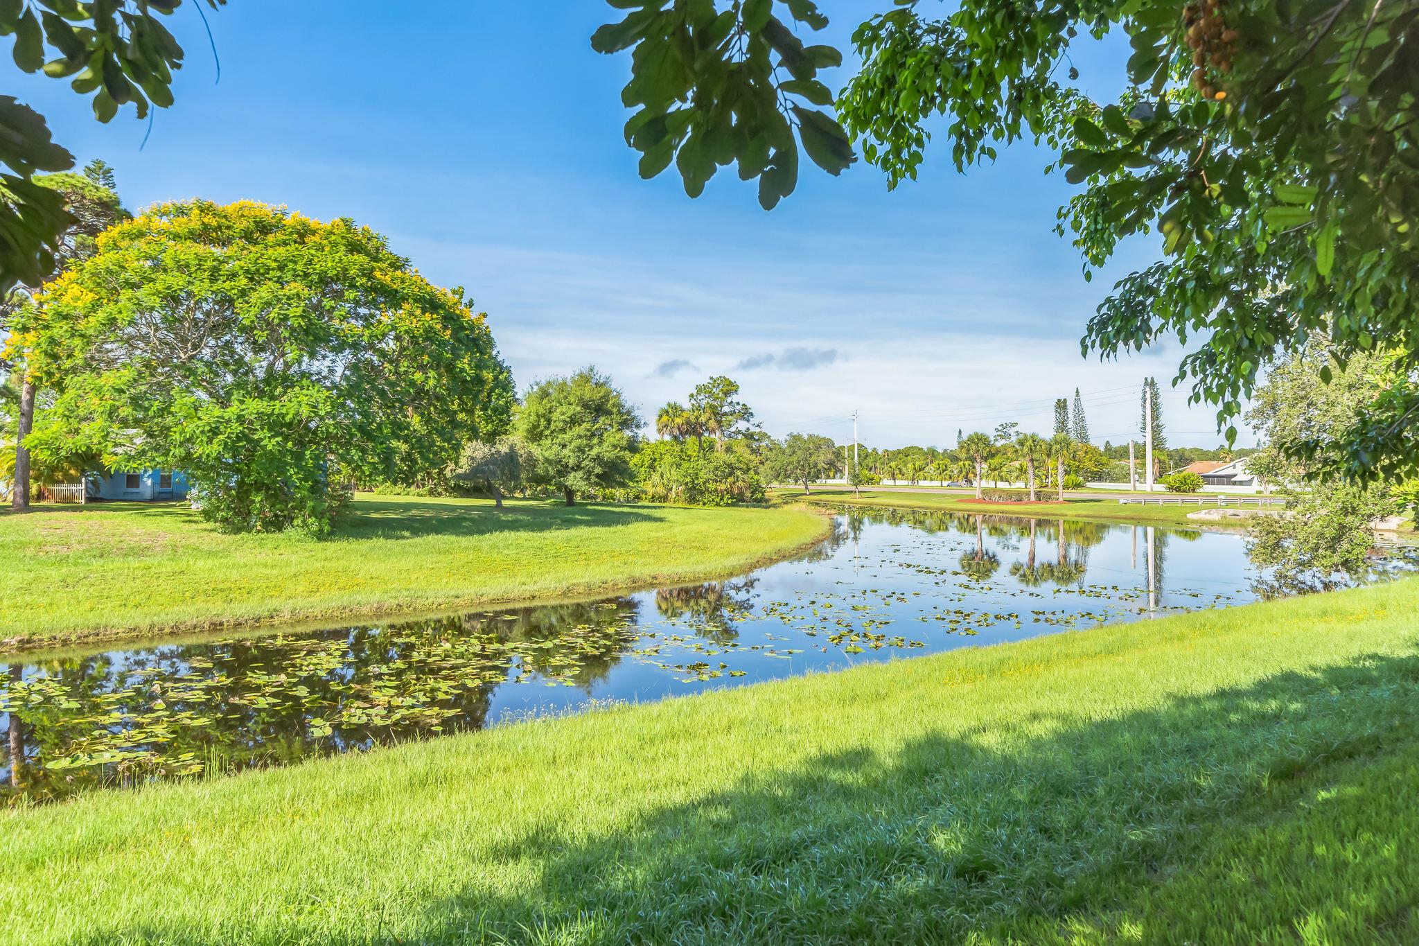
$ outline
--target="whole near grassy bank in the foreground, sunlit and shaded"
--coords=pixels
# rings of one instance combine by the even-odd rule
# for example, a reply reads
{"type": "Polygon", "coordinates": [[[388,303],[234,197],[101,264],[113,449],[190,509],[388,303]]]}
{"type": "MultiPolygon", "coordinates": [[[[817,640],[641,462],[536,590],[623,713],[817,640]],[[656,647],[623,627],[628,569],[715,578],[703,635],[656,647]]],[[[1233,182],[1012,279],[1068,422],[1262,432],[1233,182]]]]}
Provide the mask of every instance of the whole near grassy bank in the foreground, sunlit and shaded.
{"type": "Polygon", "coordinates": [[[1416,603],[1409,580],[13,811],[0,937],[1415,942],[1416,603]]]}

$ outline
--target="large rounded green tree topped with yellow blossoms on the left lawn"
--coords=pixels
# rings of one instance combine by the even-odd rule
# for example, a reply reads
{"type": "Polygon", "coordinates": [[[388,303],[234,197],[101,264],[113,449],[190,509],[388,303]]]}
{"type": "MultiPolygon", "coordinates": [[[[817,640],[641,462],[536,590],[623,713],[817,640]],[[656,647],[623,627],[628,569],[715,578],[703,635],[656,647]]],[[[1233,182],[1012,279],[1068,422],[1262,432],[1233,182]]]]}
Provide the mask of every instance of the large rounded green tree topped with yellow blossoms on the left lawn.
{"type": "Polygon", "coordinates": [[[322,532],[332,478],[444,467],[514,391],[485,318],[350,220],[159,204],[17,319],[54,391],[38,457],[186,471],[210,519],[322,532]]]}

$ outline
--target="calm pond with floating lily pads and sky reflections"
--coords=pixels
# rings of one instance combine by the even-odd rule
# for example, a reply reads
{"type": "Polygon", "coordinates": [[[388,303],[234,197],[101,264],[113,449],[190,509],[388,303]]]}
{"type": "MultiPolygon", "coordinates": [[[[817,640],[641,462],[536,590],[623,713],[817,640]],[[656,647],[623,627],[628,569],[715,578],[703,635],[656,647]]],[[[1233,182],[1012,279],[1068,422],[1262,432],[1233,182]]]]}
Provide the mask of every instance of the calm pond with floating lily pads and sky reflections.
{"type": "Polygon", "coordinates": [[[217,777],[866,661],[1256,600],[1236,533],[849,511],[809,555],[597,601],[18,658],[0,791],[217,777]]]}

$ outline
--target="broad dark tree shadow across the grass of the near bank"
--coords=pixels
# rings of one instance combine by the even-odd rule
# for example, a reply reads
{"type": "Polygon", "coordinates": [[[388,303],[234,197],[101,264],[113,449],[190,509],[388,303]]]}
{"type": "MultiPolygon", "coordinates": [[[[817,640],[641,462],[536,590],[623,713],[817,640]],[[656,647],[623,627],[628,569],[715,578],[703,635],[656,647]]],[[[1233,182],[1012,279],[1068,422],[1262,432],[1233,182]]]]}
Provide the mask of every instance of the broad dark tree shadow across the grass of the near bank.
{"type": "Polygon", "coordinates": [[[1290,942],[1341,913],[1362,933],[1317,942],[1413,942],[1419,806],[1386,808],[1393,784],[1371,777],[1398,759],[1419,764],[1419,657],[1366,657],[1087,725],[1050,711],[826,753],[592,840],[529,823],[465,889],[393,903],[369,935],[152,918],[89,942],[1290,942]],[[1403,864],[1313,857],[1321,825],[1403,864]],[[1189,885],[1237,837],[1256,862],[1189,885]],[[1300,848],[1291,868],[1269,837],[1300,848]],[[538,879],[480,885],[502,867],[538,879]]]}

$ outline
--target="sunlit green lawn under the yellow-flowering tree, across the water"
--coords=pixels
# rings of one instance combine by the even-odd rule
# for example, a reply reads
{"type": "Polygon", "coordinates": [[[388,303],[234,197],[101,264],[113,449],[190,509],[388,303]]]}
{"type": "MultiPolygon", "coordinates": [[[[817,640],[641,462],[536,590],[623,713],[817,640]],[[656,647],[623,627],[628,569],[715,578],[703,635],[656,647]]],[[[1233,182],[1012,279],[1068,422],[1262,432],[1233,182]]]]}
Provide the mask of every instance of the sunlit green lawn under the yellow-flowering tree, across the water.
{"type": "Polygon", "coordinates": [[[0,515],[0,642],[455,608],[739,572],[820,538],[792,509],[358,498],[336,535],[223,535],[182,505],[0,515]],[[9,638],[9,641],[6,641],[9,638]]]}

